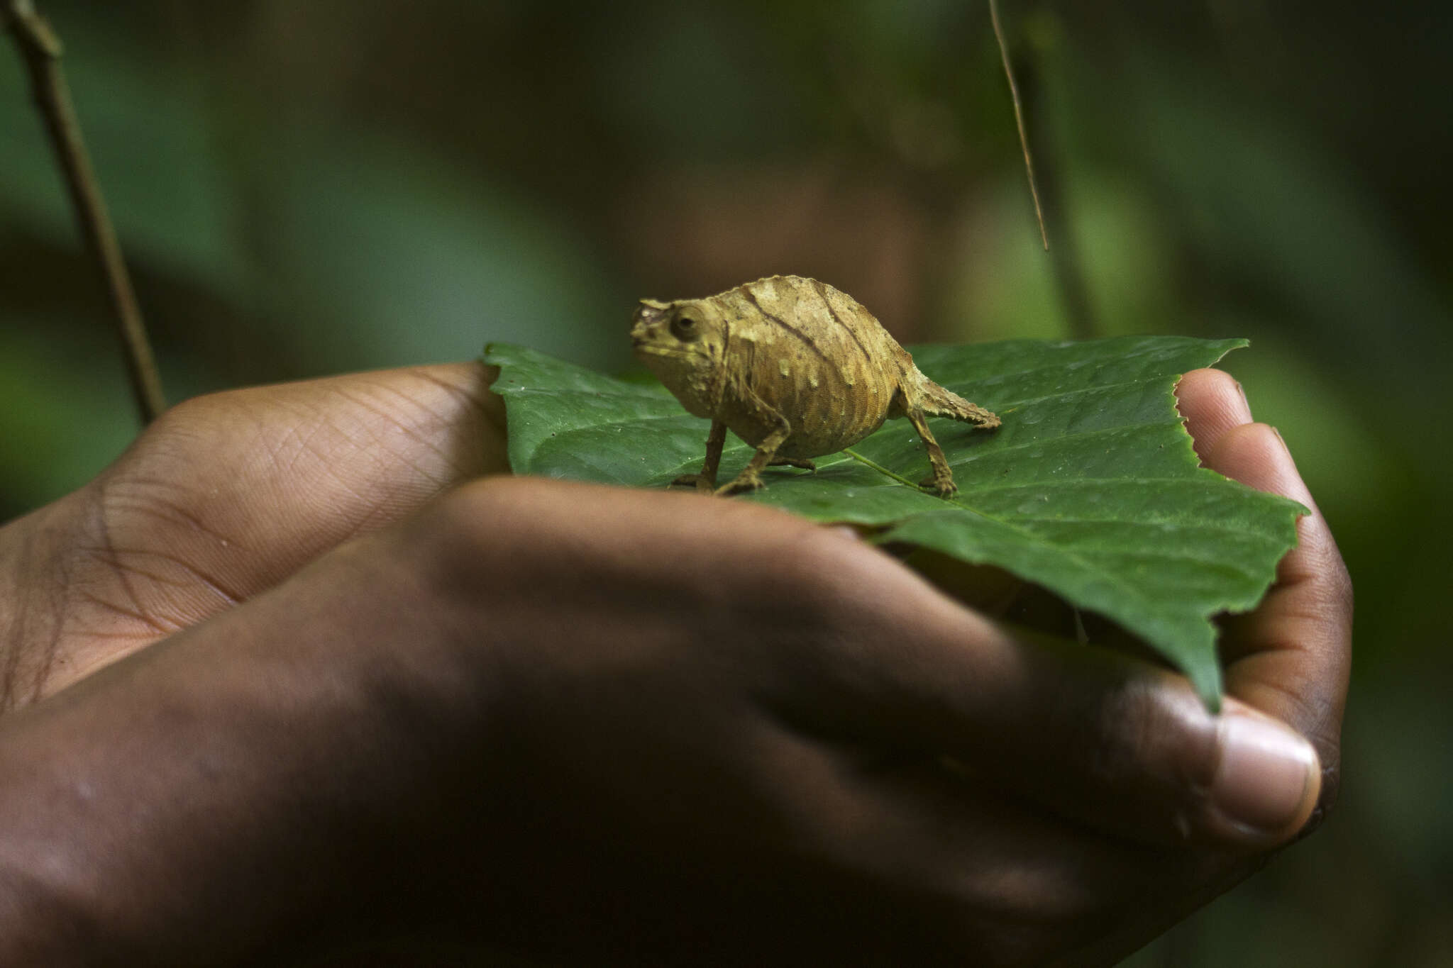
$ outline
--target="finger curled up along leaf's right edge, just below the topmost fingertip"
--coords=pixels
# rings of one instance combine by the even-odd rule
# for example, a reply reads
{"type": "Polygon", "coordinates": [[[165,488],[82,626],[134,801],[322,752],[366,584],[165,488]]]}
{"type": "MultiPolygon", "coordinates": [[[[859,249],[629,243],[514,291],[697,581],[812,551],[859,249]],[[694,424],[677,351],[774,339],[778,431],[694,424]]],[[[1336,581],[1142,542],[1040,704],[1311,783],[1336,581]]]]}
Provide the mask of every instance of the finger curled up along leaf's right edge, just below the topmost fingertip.
{"type": "Polygon", "coordinates": [[[1298,544],[1277,565],[1261,605],[1225,623],[1226,689],[1306,734],[1322,759],[1322,808],[1335,798],[1351,666],[1353,589],[1327,520],[1280,434],[1266,424],[1226,431],[1209,466],[1258,491],[1302,502],[1298,544]]]}

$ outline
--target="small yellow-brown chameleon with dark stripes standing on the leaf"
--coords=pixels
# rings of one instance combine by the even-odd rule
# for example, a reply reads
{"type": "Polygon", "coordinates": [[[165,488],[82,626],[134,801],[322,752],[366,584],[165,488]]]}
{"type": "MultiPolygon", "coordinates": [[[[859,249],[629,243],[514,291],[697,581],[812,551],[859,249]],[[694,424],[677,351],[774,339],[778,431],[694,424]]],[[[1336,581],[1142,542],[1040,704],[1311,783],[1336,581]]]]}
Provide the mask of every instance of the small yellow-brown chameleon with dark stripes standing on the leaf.
{"type": "Polygon", "coordinates": [[[757,453],[716,493],[761,488],[769,464],[815,470],[809,457],[907,417],[933,464],[923,486],[950,495],[953,472],[926,417],[1000,425],[920,373],[856,299],[815,279],[772,276],[705,299],[642,299],[631,345],[687,411],[712,419],[702,472],[673,482],[699,491],[716,488],[728,428],[757,453]]]}

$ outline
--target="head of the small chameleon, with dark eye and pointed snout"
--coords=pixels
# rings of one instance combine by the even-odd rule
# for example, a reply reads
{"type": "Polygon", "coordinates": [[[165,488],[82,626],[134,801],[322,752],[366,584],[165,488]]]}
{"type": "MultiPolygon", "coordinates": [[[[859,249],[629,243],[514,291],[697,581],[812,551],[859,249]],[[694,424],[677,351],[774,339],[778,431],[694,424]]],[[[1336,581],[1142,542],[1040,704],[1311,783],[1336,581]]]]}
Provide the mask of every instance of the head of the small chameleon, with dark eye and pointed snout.
{"type": "Polygon", "coordinates": [[[631,325],[631,348],[687,411],[711,417],[709,399],[726,345],[726,324],[706,299],[642,299],[631,325]]]}

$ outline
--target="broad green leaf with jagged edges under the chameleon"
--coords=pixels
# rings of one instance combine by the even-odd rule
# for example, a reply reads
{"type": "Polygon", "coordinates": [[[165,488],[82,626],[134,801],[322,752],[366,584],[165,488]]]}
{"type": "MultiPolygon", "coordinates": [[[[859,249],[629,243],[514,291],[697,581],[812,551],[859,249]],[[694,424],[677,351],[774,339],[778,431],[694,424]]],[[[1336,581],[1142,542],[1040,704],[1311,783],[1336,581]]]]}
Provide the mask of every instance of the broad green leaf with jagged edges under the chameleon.
{"type": "MultiPolygon", "coordinates": [[[[1199,466],[1175,411],[1181,373],[1245,340],[1117,337],[917,347],[931,379],[995,411],[992,432],[934,419],[959,493],[920,491],[928,470],[907,421],[888,421],[818,470],[769,469],[737,499],[817,521],[876,525],[907,541],[994,565],[1144,639],[1215,707],[1215,627],[1252,608],[1296,543],[1295,501],[1199,466]]],[[[709,422],[660,385],[593,373],[514,345],[491,345],[516,473],[661,488],[700,469],[709,422]]],[[[751,457],[728,438],[722,480],[751,457]]]]}

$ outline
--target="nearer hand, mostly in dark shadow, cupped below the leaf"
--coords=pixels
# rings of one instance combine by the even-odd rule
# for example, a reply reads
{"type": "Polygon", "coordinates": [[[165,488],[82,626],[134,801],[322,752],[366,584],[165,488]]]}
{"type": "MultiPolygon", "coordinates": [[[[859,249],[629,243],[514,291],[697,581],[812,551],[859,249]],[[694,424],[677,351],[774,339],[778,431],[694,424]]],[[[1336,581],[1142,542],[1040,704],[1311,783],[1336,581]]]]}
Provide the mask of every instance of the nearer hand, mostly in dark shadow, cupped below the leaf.
{"type": "MultiPolygon", "coordinates": [[[[147,861],[122,850],[112,878],[160,865],[205,882],[244,848],[276,862],[231,881],[250,904],[212,898],[202,940],[216,961],[235,951],[218,943],[228,924],[279,930],[264,887],[357,926],[356,904],[299,894],[321,882],[366,887],[389,914],[371,927],[417,926],[423,908],[474,940],[600,959],[1084,964],[1107,929],[1144,940],[1154,926],[1136,916],[1174,914],[1167,898],[1186,904],[1251,856],[1221,846],[1238,832],[1190,788],[1221,745],[1174,676],[1019,643],[860,543],[684,495],[465,488],[36,713],[4,730],[12,766],[44,750],[51,776],[78,771],[97,803],[157,817],[132,840],[147,861]],[[283,643],[301,659],[259,688],[283,643]],[[158,704],[211,743],[129,727],[155,763],[151,789],[76,743],[126,733],[158,704]],[[279,729],[299,718],[302,743],[279,729]],[[199,758],[234,766],[234,782],[195,791],[199,758]],[[177,789],[211,807],[205,823],[158,810],[177,789]],[[270,813],[283,794],[294,810],[270,813]],[[357,824],[320,820],[360,813],[400,845],[378,862],[388,877],[339,853],[340,833],[357,850],[357,824]],[[296,850],[304,833],[333,853],[296,850]],[[1165,843],[1181,845],[1170,861],[1165,843]],[[269,878],[296,856],[333,859],[279,891],[269,878]]],[[[1305,814],[1311,797],[1292,807],[1305,814]]],[[[31,850],[55,821],[31,817],[31,850]]],[[[115,881],[87,887],[100,897],[115,881]]],[[[134,936],[154,938],[138,929],[157,917],[148,897],[113,914],[134,936]]],[[[190,904],[206,910],[206,894],[190,904]]]]}

